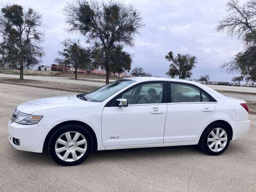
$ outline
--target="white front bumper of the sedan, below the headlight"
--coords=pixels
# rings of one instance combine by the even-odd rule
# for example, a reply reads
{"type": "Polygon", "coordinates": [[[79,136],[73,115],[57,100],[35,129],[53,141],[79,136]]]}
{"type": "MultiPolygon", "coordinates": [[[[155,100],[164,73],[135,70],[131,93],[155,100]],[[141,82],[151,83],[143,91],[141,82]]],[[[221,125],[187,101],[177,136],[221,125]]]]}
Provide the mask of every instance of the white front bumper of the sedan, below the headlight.
{"type": "Polygon", "coordinates": [[[52,126],[23,125],[9,121],[9,141],[15,149],[42,153],[44,140],[52,126]],[[13,143],[13,138],[20,140],[20,145],[13,143]]]}

